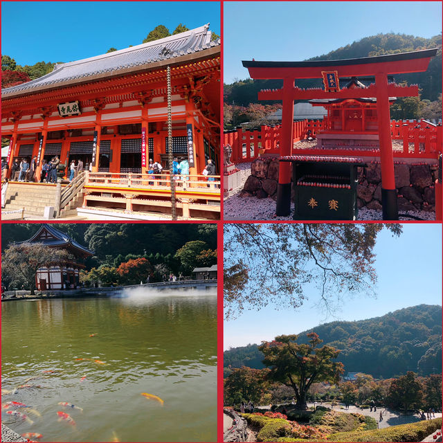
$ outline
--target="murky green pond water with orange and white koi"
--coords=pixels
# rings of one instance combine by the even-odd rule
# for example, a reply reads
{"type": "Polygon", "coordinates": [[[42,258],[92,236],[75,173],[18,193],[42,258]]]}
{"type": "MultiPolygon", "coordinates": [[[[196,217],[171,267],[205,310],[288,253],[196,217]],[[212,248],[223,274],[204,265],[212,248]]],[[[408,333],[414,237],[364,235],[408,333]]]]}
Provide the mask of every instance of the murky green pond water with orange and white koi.
{"type": "Polygon", "coordinates": [[[42,442],[217,440],[215,291],[130,294],[1,304],[2,390],[39,377],[28,381],[33,387],[3,393],[2,404],[20,401],[41,415],[2,408],[3,424],[40,433],[42,442]],[[59,422],[58,411],[75,426],[59,422]]]}

